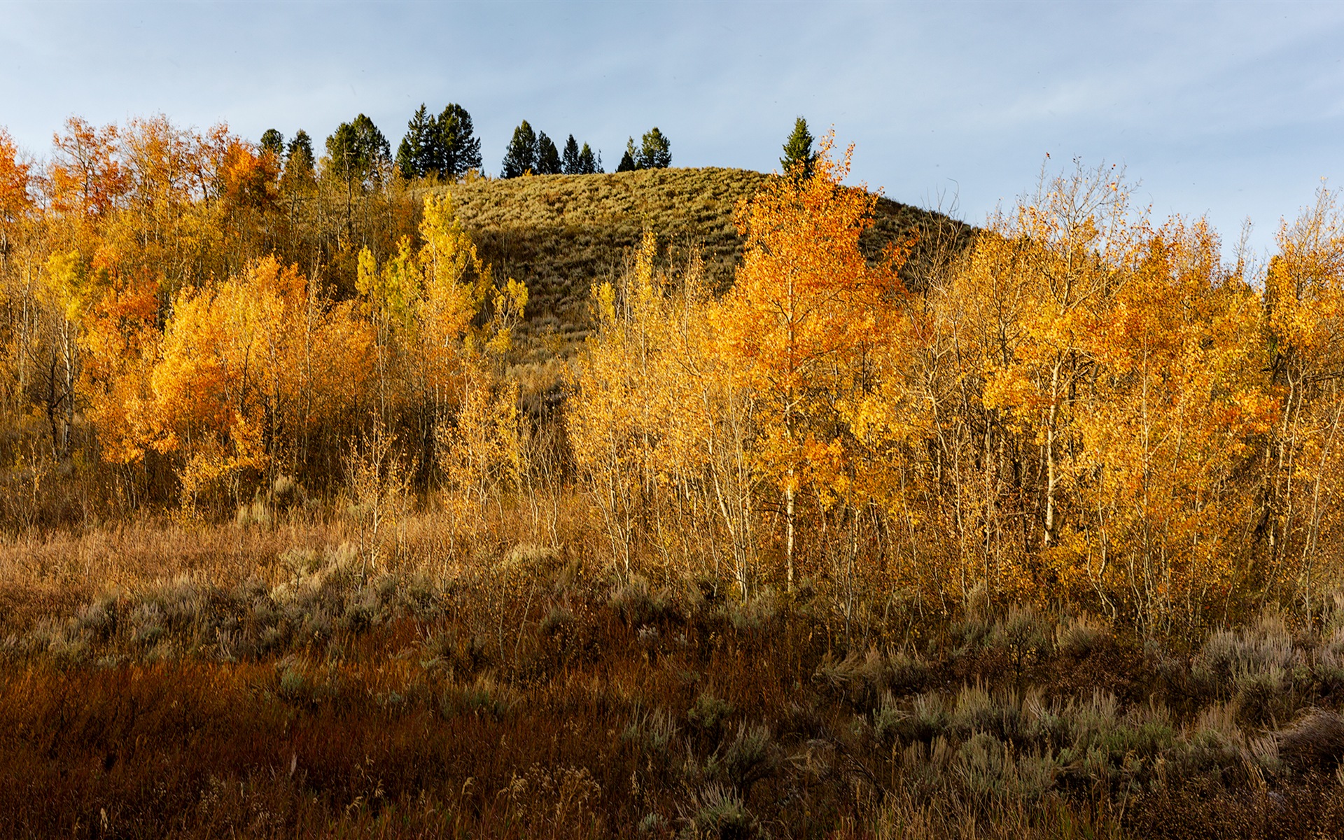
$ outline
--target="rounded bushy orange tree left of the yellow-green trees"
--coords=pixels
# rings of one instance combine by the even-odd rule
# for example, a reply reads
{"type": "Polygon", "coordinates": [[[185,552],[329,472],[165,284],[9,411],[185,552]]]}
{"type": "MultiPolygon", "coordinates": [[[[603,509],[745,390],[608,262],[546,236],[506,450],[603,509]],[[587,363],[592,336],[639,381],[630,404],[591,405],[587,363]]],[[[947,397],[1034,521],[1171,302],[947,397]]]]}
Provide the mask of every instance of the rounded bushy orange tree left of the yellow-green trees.
{"type": "Polygon", "coordinates": [[[164,328],[145,445],[173,454],[184,503],[249,474],[293,473],[304,442],[353,414],[368,333],[294,267],[261,259],[214,288],[183,290],[164,328]]]}

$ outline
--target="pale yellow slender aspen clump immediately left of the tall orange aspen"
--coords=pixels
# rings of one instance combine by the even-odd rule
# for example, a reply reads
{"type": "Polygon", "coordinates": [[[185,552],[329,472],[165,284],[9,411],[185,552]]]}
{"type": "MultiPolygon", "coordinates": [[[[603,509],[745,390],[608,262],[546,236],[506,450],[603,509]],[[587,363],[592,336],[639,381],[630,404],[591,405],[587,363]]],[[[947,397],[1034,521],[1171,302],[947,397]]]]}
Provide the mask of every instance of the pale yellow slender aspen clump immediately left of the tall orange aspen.
{"type": "MultiPolygon", "coordinates": [[[[712,453],[718,441],[719,406],[707,405],[715,366],[703,332],[699,263],[692,259],[677,284],[655,267],[656,255],[657,241],[646,230],[621,282],[594,285],[597,331],[585,344],[566,409],[579,474],[602,516],[613,563],[626,575],[640,571],[645,548],[665,574],[691,562],[684,543],[677,556],[684,535],[676,523],[704,524],[706,449],[712,453]]],[[[716,487],[731,496],[723,482],[716,487]]],[[[718,550],[712,538],[708,543],[718,550]]]]}

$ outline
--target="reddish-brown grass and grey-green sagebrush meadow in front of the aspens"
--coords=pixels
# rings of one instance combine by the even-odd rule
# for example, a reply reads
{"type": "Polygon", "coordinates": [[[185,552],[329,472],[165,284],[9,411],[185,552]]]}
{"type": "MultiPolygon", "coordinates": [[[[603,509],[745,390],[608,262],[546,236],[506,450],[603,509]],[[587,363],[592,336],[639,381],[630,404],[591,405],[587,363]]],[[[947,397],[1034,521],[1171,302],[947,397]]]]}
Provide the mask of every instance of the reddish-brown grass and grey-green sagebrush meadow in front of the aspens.
{"type": "Polygon", "coordinates": [[[856,632],[806,587],[743,603],[708,577],[616,577],[536,544],[435,548],[435,523],[407,523],[378,564],[335,520],[54,538],[46,582],[34,551],[8,546],[0,824],[26,837],[1344,831],[1333,617],[1302,632],[1267,612],[1161,642],[1067,607],[907,606],[856,632]],[[449,562],[462,551],[470,563],[449,562]]]}

